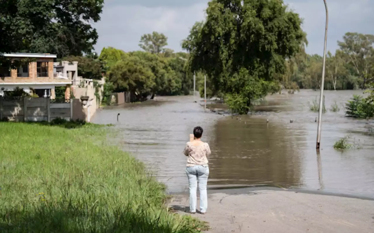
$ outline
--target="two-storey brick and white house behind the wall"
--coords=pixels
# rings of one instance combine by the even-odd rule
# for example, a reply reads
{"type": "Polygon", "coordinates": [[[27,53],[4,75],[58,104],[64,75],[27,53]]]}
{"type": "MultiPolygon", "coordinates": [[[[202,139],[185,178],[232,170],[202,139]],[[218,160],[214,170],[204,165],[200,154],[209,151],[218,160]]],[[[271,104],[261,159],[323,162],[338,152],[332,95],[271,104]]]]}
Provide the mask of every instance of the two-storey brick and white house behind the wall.
{"type": "MultiPolygon", "coordinates": [[[[55,98],[55,87],[66,87],[70,97],[72,79],[77,78],[78,62],[55,62],[57,56],[49,53],[0,53],[12,60],[30,59],[31,62],[18,69],[0,67],[0,95],[19,87],[27,93],[32,90],[39,97],[55,98]]],[[[67,94],[66,94],[67,93],[67,94]]]]}

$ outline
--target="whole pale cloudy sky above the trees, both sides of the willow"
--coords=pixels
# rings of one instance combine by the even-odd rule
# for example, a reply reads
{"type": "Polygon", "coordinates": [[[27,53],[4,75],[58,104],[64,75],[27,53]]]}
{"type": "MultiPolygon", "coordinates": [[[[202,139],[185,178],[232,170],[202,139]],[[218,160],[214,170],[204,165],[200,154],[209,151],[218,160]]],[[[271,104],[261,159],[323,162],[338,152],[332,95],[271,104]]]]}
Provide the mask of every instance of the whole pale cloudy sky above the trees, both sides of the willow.
{"type": "MultiPolygon", "coordinates": [[[[323,54],[325,5],[323,0],[284,0],[304,20],[307,53],[323,54]]],[[[374,34],[374,0],[327,0],[329,10],[327,50],[338,49],[346,32],[374,34]]],[[[208,0],[105,0],[101,20],[93,24],[99,34],[95,51],[115,47],[140,50],[141,35],[153,31],[168,37],[167,48],[182,51],[181,41],[196,21],[205,18],[208,0]]]]}

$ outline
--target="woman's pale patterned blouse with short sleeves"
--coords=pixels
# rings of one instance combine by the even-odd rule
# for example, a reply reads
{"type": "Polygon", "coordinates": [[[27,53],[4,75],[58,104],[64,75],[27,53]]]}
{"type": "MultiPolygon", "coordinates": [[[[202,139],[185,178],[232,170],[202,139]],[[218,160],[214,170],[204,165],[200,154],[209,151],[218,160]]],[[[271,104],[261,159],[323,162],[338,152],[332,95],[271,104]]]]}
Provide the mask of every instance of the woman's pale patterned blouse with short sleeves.
{"type": "Polygon", "coordinates": [[[187,142],[183,154],[188,156],[187,167],[193,167],[195,165],[208,165],[206,156],[209,156],[211,151],[206,142],[200,146],[194,146],[191,142],[187,142]]]}

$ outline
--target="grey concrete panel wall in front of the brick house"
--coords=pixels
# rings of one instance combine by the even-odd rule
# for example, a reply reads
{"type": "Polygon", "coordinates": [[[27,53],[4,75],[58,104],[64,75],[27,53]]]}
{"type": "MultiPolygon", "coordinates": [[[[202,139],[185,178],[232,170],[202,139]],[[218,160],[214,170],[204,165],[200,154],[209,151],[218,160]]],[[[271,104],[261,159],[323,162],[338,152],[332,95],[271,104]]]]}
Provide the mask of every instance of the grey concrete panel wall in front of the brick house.
{"type": "Polygon", "coordinates": [[[3,99],[0,97],[0,119],[10,121],[52,121],[55,118],[86,120],[80,100],[70,103],[50,103],[49,98],[3,99]]]}

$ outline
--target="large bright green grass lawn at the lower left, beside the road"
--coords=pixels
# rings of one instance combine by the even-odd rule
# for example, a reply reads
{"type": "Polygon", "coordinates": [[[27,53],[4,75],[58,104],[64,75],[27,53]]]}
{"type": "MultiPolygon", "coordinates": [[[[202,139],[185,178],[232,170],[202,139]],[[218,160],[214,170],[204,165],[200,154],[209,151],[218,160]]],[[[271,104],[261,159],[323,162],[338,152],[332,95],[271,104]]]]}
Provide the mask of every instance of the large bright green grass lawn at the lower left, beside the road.
{"type": "Polygon", "coordinates": [[[142,162],[108,146],[107,128],[12,122],[0,128],[0,232],[207,229],[168,211],[165,185],[142,162]]]}

